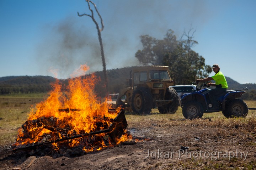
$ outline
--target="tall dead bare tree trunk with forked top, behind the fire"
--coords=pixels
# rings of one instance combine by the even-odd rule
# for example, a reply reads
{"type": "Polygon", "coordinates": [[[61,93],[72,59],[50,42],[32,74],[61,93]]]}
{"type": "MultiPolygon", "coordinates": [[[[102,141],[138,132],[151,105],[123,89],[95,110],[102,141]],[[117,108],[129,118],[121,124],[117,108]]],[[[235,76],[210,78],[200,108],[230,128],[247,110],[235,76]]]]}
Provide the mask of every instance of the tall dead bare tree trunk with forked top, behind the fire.
{"type": "Polygon", "coordinates": [[[101,15],[100,15],[100,13],[98,12],[97,7],[96,7],[96,5],[94,4],[94,2],[92,2],[91,0],[86,0],[86,2],[87,2],[87,4],[88,4],[89,10],[91,11],[91,15],[86,14],[86,13],[80,15],[79,12],[78,12],[78,16],[79,16],[79,17],[82,17],[82,16],[91,17],[91,18],[92,18],[92,21],[96,24],[96,28],[97,28],[97,31],[98,31],[98,39],[99,39],[99,41],[100,41],[101,59],[102,59],[102,65],[103,65],[103,74],[104,74],[104,77],[105,77],[105,87],[106,87],[106,92],[108,93],[108,78],[107,78],[106,62],[105,62],[103,44],[102,44],[102,39],[101,39],[101,32],[102,32],[103,29],[104,29],[104,24],[103,24],[102,17],[101,17],[101,15]],[[101,20],[101,28],[99,27],[97,21],[96,21],[95,18],[94,18],[94,11],[91,9],[90,3],[91,3],[92,5],[94,5],[95,11],[97,12],[98,16],[100,17],[100,20],[101,20]]]}

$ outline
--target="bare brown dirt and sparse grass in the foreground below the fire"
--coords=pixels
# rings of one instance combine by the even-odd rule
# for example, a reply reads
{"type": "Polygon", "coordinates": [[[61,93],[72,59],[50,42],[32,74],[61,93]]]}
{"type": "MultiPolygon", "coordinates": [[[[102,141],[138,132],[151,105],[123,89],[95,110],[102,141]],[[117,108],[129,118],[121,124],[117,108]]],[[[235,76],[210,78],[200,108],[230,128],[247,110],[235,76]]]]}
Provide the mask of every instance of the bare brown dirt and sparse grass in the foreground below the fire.
{"type": "Polygon", "coordinates": [[[143,128],[128,128],[134,138],[151,140],[82,155],[12,153],[11,145],[4,146],[0,148],[0,169],[256,169],[255,127],[220,124],[207,118],[152,121],[143,128]]]}

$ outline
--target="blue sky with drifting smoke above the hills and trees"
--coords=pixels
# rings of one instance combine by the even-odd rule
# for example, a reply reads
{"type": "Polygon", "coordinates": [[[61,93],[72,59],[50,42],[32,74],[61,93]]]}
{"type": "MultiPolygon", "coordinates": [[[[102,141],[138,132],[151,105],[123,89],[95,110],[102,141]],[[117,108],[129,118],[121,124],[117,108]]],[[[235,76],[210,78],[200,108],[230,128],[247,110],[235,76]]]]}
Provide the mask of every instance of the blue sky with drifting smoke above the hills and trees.
{"type": "MultiPolygon", "coordinates": [[[[105,25],[107,69],[139,64],[140,35],[162,39],[172,29],[179,39],[193,28],[193,50],[206,64],[218,63],[239,83],[256,83],[255,0],[93,1],[105,25]]],[[[77,12],[90,14],[85,0],[0,0],[0,77],[69,78],[80,64],[102,70],[95,24],[77,12]]]]}

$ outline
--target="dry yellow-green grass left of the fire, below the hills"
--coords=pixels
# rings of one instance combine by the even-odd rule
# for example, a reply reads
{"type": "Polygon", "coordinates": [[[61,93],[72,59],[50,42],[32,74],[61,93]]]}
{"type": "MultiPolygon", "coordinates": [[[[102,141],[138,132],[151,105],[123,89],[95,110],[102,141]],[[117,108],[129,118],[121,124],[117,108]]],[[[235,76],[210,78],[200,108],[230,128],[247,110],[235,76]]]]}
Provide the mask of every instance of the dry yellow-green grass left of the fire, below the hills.
{"type": "Polygon", "coordinates": [[[27,120],[30,108],[46,94],[4,95],[0,97],[0,146],[15,142],[17,129],[27,120]]]}

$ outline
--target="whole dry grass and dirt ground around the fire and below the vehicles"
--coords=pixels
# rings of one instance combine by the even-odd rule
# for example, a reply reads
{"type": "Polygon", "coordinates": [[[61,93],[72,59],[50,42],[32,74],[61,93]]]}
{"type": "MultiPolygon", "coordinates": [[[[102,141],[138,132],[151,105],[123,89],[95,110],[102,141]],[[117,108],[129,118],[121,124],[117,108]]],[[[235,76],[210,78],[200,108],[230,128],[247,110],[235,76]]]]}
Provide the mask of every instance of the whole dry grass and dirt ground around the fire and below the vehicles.
{"type": "MultiPolygon", "coordinates": [[[[140,138],[136,145],[120,144],[75,157],[12,153],[17,129],[44,95],[0,96],[0,169],[256,169],[255,110],[246,118],[227,119],[218,112],[196,120],[184,119],[181,108],[176,114],[126,111],[128,131],[140,138]]],[[[245,102],[256,107],[256,101],[245,102]]]]}

